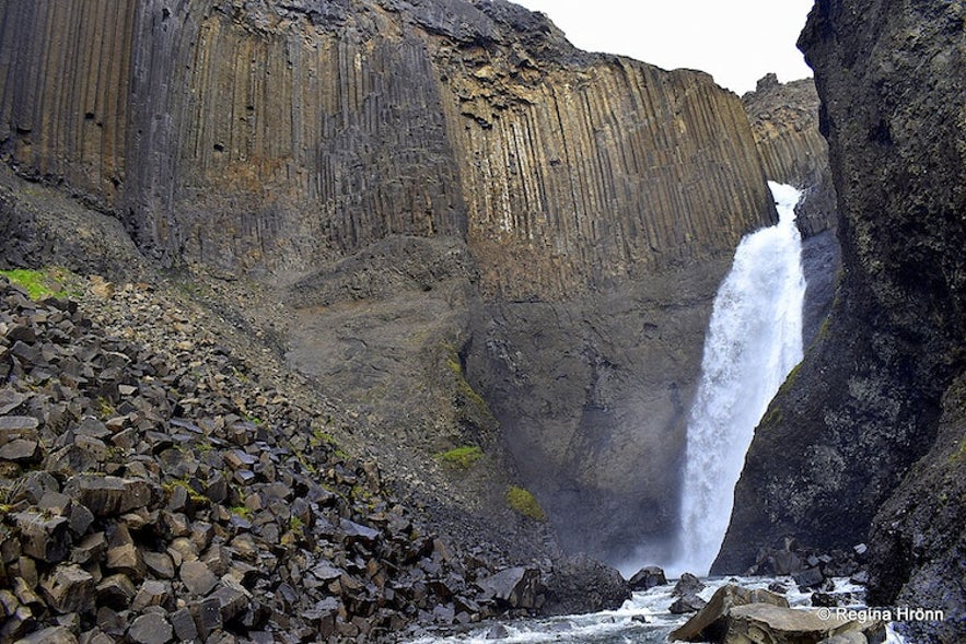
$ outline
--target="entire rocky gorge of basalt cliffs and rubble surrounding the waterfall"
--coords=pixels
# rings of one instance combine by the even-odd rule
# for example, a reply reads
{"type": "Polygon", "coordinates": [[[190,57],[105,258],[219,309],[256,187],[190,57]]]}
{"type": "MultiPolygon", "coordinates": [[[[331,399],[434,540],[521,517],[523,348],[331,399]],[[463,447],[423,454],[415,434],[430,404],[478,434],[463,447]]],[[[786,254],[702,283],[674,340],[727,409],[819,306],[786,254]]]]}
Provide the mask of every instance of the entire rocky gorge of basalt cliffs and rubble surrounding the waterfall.
{"type": "Polygon", "coordinates": [[[107,637],[107,602],[171,625],[175,599],[200,624],[216,593],[211,632],[237,642],[619,604],[604,566],[570,557],[674,557],[715,292],[743,237],[792,232],[767,177],[803,190],[804,361],[754,432],[711,570],[864,542],[870,598],[944,609],[910,636],[956,641],[964,11],[818,0],[815,85],[766,78],[740,99],[580,51],[504,0],[3,0],[0,269],[83,284],[80,313],[4,290],[11,632],[107,637]],[[104,336],[86,380],[58,371],[48,326],[104,336]],[[185,459],[200,469],[174,478],[185,459]],[[167,552],[187,538],[171,517],[199,504],[196,554],[242,589],[135,566],[135,590],[167,584],[165,614],[117,578],[58,604],[65,569],[92,588],[88,569],[115,571],[106,550],[79,563],[26,537],[37,485],[84,505],[84,468],[153,496],[57,528],[65,543],[167,552]],[[280,493],[306,495],[299,514],[280,493]],[[504,597],[505,571],[523,572],[504,597]]]}

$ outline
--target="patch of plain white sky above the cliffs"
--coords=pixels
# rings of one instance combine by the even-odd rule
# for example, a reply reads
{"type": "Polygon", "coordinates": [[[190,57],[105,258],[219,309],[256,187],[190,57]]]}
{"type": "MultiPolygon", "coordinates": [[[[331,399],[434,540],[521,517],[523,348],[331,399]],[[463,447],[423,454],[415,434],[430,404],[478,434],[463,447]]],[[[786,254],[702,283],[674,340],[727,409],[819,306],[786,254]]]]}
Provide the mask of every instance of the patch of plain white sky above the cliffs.
{"type": "Polygon", "coordinates": [[[699,69],[737,94],[768,72],[812,77],[799,33],[813,0],[512,0],[543,11],[581,49],[699,69]]]}

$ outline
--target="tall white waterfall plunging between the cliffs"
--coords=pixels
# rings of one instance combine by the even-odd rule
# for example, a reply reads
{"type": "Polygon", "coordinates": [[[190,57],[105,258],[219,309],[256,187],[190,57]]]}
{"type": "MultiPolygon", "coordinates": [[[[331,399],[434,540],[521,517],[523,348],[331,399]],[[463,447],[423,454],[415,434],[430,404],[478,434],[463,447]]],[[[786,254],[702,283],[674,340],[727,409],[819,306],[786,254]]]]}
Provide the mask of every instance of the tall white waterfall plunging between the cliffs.
{"type": "Polygon", "coordinates": [[[714,297],[688,420],[678,560],[668,572],[708,573],[755,426],[802,360],[805,278],[794,211],[801,192],[768,187],[779,222],[742,239],[714,297]]]}

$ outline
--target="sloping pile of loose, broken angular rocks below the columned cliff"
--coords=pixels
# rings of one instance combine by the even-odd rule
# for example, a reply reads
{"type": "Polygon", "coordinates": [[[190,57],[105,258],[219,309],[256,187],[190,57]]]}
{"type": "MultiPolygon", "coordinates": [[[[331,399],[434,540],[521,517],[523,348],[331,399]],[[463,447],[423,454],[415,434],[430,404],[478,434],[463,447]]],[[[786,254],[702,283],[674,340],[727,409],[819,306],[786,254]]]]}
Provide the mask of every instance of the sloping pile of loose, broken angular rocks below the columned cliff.
{"type": "Polygon", "coordinates": [[[545,601],[198,332],[166,354],[0,278],[0,640],[389,639],[545,601]]]}

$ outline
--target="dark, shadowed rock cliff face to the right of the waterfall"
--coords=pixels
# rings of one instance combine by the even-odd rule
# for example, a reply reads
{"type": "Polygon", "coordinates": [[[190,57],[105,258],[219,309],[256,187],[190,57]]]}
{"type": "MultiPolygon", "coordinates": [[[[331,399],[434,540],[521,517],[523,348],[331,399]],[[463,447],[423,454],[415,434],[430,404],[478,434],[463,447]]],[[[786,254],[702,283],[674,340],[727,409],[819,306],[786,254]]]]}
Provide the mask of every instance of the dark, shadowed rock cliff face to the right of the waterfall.
{"type": "MultiPolygon", "coordinates": [[[[963,614],[964,499],[944,481],[963,476],[964,20],[957,2],[813,9],[800,44],[822,96],[845,276],[827,333],[758,428],[718,572],[785,535],[848,547],[874,526],[873,595],[963,614]]],[[[917,628],[964,632],[962,619],[917,628]]]]}

